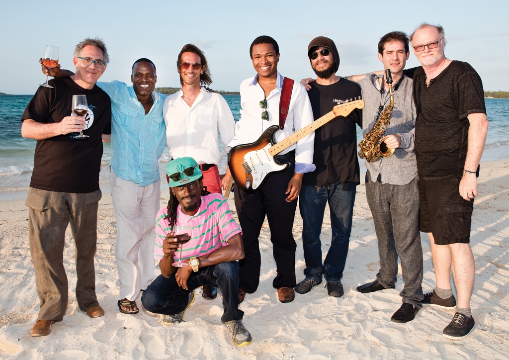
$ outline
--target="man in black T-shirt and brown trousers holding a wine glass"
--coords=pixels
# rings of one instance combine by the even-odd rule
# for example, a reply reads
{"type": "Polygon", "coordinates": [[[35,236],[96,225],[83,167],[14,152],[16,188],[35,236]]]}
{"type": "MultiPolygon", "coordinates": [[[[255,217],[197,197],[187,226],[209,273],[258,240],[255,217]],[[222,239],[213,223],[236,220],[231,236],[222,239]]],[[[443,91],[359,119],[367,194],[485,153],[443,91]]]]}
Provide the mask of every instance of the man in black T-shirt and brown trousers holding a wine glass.
{"type": "Polygon", "coordinates": [[[30,253],[41,309],[32,336],[46,336],[67,309],[68,283],[63,265],[68,224],[76,246],[76,300],[91,318],[104,315],[95,293],[94,255],[102,140],[111,133],[111,102],[95,84],[106,69],[108,54],[98,39],[76,45],[71,77],[40,87],[21,118],[21,135],[37,140],[34,170],[25,205],[29,207],[30,253]],[[89,63],[89,65],[86,65],[89,63]],[[71,116],[72,96],[87,96],[85,118],[71,116]],[[86,139],[72,133],[84,130],[86,139]]]}

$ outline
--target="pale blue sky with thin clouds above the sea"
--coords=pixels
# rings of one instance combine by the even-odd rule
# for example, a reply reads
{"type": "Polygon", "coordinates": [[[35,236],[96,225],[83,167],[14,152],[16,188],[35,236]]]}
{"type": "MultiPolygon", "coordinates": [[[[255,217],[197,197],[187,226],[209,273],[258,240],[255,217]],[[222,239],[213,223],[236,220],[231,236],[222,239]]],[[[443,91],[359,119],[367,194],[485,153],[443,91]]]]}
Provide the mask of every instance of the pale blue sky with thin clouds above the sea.
{"type": "MultiPolygon", "coordinates": [[[[157,67],[157,85],[180,86],[177,55],[186,43],[199,46],[210,63],[216,90],[238,91],[254,75],[249,45],[259,35],[279,44],[278,70],[295,79],[314,75],[306,56],[316,36],[334,40],[340,52],[337,74],[382,70],[377,43],[390,31],[410,35],[427,21],[445,29],[445,54],[470,63],[485,90],[509,91],[509,2],[498,1],[25,1],[2,3],[0,92],[33,94],[45,45],[60,47],[60,63],[73,70],[76,43],[99,36],[110,63],[103,81],[130,82],[139,58],[157,67]]],[[[418,62],[410,52],[407,67],[418,62]]]]}

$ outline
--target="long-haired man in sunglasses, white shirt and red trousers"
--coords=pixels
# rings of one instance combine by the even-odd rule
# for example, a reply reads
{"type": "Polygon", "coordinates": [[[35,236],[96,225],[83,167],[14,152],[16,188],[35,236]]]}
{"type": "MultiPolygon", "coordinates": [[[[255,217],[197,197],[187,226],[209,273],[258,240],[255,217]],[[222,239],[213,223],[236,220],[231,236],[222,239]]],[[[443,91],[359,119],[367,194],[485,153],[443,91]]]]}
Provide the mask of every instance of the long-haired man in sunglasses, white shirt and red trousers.
{"type": "MultiPolygon", "coordinates": [[[[221,183],[217,169],[221,161],[217,131],[224,144],[232,141],[235,135],[232,112],[221,95],[205,88],[210,86],[212,78],[207,59],[198,47],[193,44],[182,47],[177,58],[177,71],[182,89],[169,95],[163,107],[169,156],[194,158],[200,164],[207,191],[222,194],[221,187],[228,184],[230,173],[221,183]]],[[[217,290],[204,286],[202,295],[214,299],[217,290]]]]}

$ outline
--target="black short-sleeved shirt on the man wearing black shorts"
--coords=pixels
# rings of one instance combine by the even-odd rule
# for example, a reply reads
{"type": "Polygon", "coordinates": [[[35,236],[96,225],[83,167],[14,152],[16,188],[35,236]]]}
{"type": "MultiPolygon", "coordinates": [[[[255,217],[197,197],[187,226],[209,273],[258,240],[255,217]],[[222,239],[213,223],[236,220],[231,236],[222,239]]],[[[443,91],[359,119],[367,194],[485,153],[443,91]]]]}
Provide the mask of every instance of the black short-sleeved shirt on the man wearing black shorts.
{"type": "Polygon", "coordinates": [[[419,176],[433,180],[461,175],[468,147],[467,116],[486,114],[483,82],[468,63],[461,61],[451,62],[429,86],[422,67],[405,70],[405,75],[413,77],[419,176]]]}

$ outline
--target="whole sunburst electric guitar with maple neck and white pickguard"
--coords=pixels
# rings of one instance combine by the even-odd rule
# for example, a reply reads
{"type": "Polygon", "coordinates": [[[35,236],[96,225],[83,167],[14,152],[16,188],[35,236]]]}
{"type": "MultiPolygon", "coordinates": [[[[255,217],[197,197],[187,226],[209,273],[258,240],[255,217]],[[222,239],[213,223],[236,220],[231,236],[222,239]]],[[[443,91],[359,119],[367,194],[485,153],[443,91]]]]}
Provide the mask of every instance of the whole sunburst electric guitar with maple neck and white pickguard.
{"type": "Polygon", "coordinates": [[[235,183],[245,192],[256,191],[270,173],[284,171],[290,166],[289,162],[277,162],[275,159],[277,154],[337,116],[346,117],[354,109],[363,107],[363,100],[336,105],[330,113],[294,132],[277,144],[274,142],[274,133],[279,129],[279,126],[273,125],[265,130],[256,142],[234,146],[228,153],[228,165],[235,183]]]}

